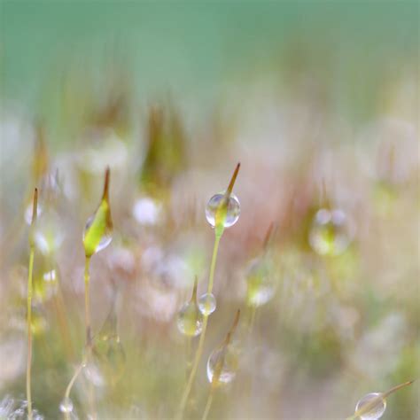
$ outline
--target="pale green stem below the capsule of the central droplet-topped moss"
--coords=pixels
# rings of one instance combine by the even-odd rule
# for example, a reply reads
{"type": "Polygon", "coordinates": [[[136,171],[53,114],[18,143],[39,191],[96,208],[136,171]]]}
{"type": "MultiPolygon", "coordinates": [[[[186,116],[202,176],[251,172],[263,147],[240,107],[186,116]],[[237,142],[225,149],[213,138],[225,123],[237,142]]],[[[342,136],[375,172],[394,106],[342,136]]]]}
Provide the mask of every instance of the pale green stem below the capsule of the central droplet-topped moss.
{"type": "MultiPolygon", "coordinates": [[[[217,252],[219,250],[219,243],[220,243],[221,237],[222,236],[218,236],[218,235],[216,235],[214,237],[213,257],[212,257],[212,262],[211,262],[211,266],[210,266],[210,276],[209,276],[209,280],[208,280],[207,293],[211,293],[213,291],[214,269],[216,267],[217,252]]],[[[179,405],[178,413],[176,415],[176,419],[178,419],[178,420],[183,418],[183,411],[185,410],[185,406],[187,404],[188,397],[190,396],[191,388],[192,388],[192,385],[194,383],[194,379],[197,375],[198,364],[199,364],[199,361],[201,359],[201,354],[203,354],[204,341],[205,341],[205,338],[206,338],[207,321],[208,321],[208,315],[204,315],[203,316],[203,330],[201,331],[201,335],[200,335],[200,338],[199,338],[199,341],[198,341],[196,356],[194,358],[194,362],[192,363],[190,377],[188,378],[187,385],[186,385],[185,390],[183,392],[183,398],[182,398],[181,403],[179,405]]]]}

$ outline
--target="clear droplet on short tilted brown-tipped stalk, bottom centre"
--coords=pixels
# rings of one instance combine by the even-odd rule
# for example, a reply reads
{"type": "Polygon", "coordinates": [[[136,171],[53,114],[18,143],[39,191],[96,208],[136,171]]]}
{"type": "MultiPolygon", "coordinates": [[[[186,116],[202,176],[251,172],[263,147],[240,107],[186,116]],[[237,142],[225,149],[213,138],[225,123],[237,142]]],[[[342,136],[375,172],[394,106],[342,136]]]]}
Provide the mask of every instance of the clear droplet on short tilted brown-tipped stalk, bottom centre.
{"type": "Polygon", "coordinates": [[[229,384],[237,375],[238,354],[234,346],[222,346],[214,350],[207,361],[207,378],[210,384],[229,384]],[[216,377],[214,377],[216,375],[216,377]]]}

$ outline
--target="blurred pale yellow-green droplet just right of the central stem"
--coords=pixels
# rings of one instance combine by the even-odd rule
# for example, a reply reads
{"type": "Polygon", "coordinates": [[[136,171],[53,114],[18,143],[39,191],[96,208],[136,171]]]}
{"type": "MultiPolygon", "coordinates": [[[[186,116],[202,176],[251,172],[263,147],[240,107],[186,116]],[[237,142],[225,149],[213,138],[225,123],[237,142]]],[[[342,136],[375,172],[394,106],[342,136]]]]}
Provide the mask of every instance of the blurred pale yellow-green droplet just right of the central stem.
{"type": "Polygon", "coordinates": [[[261,307],[266,304],[276,292],[276,268],[272,259],[264,256],[251,261],[246,282],[248,305],[261,307]]]}

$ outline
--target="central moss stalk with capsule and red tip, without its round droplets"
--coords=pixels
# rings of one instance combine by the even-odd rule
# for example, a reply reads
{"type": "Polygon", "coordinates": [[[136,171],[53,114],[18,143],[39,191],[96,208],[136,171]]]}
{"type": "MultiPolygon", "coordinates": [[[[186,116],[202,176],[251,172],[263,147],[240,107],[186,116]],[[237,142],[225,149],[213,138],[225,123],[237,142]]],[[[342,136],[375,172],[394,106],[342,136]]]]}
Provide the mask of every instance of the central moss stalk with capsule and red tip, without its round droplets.
{"type": "MultiPolygon", "coordinates": [[[[230,194],[232,193],[233,186],[235,184],[235,181],[237,179],[237,173],[239,172],[241,164],[238,163],[237,167],[235,168],[235,171],[230,179],[228,189],[225,191],[223,199],[221,200],[221,203],[219,207],[216,210],[216,213],[214,215],[214,248],[213,248],[213,256],[212,256],[212,262],[210,265],[210,275],[208,280],[208,286],[207,286],[207,293],[211,293],[213,291],[213,284],[214,284],[214,270],[216,267],[216,261],[217,261],[217,253],[219,251],[219,244],[220,240],[222,238],[223,231],[225,229],[224,223],[226,221],[226,216],[228,214],[228,205],[229,205],[229,198],[230,194]]],[[[191,393],[191,388],[194,383],[194,379],[197,375],[197,369],[198,364],[201,359],[201,354],[203,354],[203,348],[204,348],[204,341],[206,339],[206,329],[207,329],[207,322],[208,322],[208,316],[209,315],[203,315],[203,329],[201,331],[201,335],[198,341],[198,347],[197,352],[194,358],[194,362],[192,363],[191,367],[191,373],[190,377],[188,379],[187,385],[185,387],[185,390],[183,392],[183,397],[181,399],[181,403],[178,408],[178,413],[176,416],[176,419],[181,419],[183,417],[183,411],[185,410],[185,406],[188,401],[188,397],[191,393]]]]}

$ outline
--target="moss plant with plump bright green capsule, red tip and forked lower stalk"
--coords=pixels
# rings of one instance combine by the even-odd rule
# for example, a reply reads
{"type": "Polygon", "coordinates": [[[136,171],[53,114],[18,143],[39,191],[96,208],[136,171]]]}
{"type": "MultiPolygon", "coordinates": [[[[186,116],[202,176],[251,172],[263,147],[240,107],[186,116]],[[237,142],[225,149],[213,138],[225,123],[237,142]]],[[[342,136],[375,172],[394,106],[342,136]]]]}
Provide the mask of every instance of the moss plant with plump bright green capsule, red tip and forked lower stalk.
{"type": "MultiPolygon", "coordinates": [[[[111,209],[109,205],[109,181],[110,170],[109,167],[105,171],[104,192],[102,194],[101,202],[97,206],[96,212],[89,217],[83,234],[83,246],[85,250],[85,269],[84,269],[84,313],[85,313],[85,331],[86,331],[86,348],[83,355],[82,363],[75,369],[74,376],[67,385],[64,400],[61,403],[60,409],[65,413],[66,419],[70,418],[69,413],[73,409],[73,403],[70,401],[70,393],[74,382],[80,375],[83,367],[89,362],[92,353],[92,334],[90,323],[90,292],[89,292],[89,264],[90,258],[93,254],[98,253],[111,243],[113,234],[113,220],[111,217],[111,209]]],[[[89,409],[91,415],[96,417],[95,396],[93,385],[89,384],[89,409]]]]}

